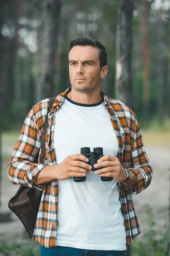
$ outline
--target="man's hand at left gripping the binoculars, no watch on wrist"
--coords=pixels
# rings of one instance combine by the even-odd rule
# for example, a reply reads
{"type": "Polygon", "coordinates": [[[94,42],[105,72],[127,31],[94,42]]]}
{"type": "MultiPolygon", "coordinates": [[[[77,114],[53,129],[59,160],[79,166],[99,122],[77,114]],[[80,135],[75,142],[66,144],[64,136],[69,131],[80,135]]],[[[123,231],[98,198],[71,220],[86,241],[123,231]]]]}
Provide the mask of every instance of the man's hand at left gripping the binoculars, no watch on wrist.
{"type": "Polygon", "coordinates": [[[56,165],[56,178],[58,180],[65,180],[69,177],[82,177],[89,174],[88,170],[91,170],[92,167],[87,163],[88,161],[88,158],[82,154],[66,157],[61,163],[56,165]]]}

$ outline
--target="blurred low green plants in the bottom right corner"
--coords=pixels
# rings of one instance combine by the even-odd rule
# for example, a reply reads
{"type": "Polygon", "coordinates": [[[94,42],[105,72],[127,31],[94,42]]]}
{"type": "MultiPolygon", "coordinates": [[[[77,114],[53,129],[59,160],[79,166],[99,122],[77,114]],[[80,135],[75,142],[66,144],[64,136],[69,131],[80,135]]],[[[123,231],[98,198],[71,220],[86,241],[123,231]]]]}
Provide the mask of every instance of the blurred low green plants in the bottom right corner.
{"type": "Polygon", "coordinates": [[[133,240],[132,256],[167,256],[168,227],[164,226],[164,230],[156,230],[156,221],[152,209],[148,206],[145,206],[144,220],[147,230],[142,236],[142,240],[139,240],[138,237],[133,240]]]}

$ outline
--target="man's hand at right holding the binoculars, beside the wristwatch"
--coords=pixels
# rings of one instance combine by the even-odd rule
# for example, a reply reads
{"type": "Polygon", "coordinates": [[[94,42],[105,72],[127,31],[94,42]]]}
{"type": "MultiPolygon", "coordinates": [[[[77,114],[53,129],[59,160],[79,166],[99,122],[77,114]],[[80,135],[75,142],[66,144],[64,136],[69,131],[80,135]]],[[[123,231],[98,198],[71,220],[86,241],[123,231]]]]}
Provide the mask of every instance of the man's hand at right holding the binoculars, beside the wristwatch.
{"type": "Polygon", "coordinates": [[[124,182],[126,180],[125,168],[123,168],[117,157],[105,155],[101,157],[94,168],[102,168],[95,171],[102,177],[113,177],[117,182],[124,182]]]}

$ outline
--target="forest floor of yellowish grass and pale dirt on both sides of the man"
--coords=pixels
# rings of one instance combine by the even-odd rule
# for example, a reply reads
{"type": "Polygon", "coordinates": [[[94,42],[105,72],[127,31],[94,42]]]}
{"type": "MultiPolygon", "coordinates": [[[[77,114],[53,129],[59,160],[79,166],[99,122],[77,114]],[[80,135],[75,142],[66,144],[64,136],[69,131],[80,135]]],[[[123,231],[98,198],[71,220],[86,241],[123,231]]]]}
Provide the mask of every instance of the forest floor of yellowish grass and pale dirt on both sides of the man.
{"type": "MultiPolygon", "coordinates": [[[[144,148],[153,168],[153,178],[150,186],[138,195],[132,195],[136,215],[139,220],[142,234],[148,227],[147,218],[156,221],[156,230],[163,230],[168,225],[169,189],[170,189],[170,131],[143,131],[144,148]],[[149,215],[146,216],[145,206],[149,206],[149,215]],[[153,217],[152,217],[153,214],[153,217]]],[[[3,172],[0,187],[1,206],[0,212],[10,212],[8,201],[15,194],[18,185],[13,185],[7,176],[8,160],[19,134],[3,134],[3,172]]],[[[10,239],[24,233],[20,220],[11,212],[12,221],[0,222],[0,240],[10,239]]],[[[139,238],[142,238],[142,234],[139,238]]]]}

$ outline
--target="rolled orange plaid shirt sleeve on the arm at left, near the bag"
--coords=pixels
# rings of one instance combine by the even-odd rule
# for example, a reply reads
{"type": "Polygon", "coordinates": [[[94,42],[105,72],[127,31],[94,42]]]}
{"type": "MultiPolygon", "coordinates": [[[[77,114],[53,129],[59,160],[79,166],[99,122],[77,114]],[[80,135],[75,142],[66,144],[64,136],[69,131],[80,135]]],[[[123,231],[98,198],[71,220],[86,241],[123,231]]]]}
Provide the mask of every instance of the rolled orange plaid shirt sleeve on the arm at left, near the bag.
{"type": "Polygon", "coordinates": [[[33,110],[28,113],[20,137],[8,163],[8,177],[11,183],[42,189],[45,185],[34,186],[34,182],[45,164],[34,163],[40,150],[40,135],[34,122],[33,110]]]}

